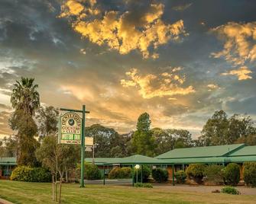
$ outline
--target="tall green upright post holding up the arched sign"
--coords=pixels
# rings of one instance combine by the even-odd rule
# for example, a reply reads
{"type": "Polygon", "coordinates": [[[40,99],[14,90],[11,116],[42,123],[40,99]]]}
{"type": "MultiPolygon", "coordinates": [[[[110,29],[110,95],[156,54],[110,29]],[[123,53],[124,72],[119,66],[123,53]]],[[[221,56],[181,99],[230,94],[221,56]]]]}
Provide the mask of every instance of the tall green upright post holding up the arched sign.
{"type": "Polygon", "coordinates": [[[81,188],[85,187],[85,185],[84,185],[85,123],[86,123],[86,106],[83,105],[82,142],[81,142],[81,180],[80,180],[81,188]]]}

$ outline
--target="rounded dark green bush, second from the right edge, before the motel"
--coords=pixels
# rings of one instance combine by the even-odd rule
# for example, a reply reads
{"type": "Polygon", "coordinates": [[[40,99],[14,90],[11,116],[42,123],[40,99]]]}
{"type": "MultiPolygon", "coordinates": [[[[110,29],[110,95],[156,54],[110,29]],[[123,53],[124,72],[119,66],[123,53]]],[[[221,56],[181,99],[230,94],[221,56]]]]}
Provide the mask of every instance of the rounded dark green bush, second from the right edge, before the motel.
{"type": "Polygon", "coordinates": [[[240,180],[240,168],[238,164],[230,163],[223,169],[225,183],[236,186],[240,180]]]}

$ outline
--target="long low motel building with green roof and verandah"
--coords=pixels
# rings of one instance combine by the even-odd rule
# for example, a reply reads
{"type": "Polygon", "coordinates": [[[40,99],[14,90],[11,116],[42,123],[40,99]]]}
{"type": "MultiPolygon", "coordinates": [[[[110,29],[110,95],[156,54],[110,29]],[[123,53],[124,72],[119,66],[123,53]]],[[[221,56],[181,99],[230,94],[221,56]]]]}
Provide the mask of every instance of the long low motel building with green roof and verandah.
{"type": "MultiPolygon", "coordinates": [[[[86,158],[85,161],[86,163],[92,163],[92,158],[86,158]]],[[[155,158],[143,155],[133,155],[126,158],[94,158],[94,164],[102,171],[104,180],[105,175],[113,167],[135,167],[136,164],[140,166],[147,165],[152,168],[166,168],[169,180],[174,180],[174,173],[180,170],[185,171],[189,164],[219,164],[226,166],[229,163],[236,163],[239,164],[242,175],[242,165],[248,161],[256,161],[256,145],[234,144],[176,148],[155,158]]],[[[16,158],[0,158],[0,179],[8,179],[15,166],[17,166],[16,158]]]]}

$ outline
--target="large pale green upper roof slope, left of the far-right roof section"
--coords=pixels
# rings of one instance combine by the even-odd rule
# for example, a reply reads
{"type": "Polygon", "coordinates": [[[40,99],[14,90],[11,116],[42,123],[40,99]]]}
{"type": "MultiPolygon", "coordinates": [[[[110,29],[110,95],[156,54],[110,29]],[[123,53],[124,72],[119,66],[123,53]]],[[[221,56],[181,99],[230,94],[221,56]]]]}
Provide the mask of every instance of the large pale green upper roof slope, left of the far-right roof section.
{"type": "Polygon", "coordinates": [[[237,151],[243,148],[245,144],[235,145],[218,145],[196,148],[175,148],[171,151],[167,151],[162,155],[158,155],[156,158],[168,159],[168,158],[209,158],[209,157],[222,157],[228,154],[232,154],[233,151],[237,151]]]}

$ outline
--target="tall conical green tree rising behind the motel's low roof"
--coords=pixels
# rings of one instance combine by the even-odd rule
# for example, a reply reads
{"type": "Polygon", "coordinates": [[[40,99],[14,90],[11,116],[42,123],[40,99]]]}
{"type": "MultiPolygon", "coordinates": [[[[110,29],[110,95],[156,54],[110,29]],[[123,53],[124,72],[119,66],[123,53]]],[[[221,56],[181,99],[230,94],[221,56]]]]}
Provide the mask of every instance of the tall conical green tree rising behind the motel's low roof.
{"type": "Polygon", "coordinates": [[[132,146],[136,154],[154,155],[154,137],[150,129],[151,120],[148,113],[142,113],[138,117],[137,131],[132,135],[132,146]]]}

